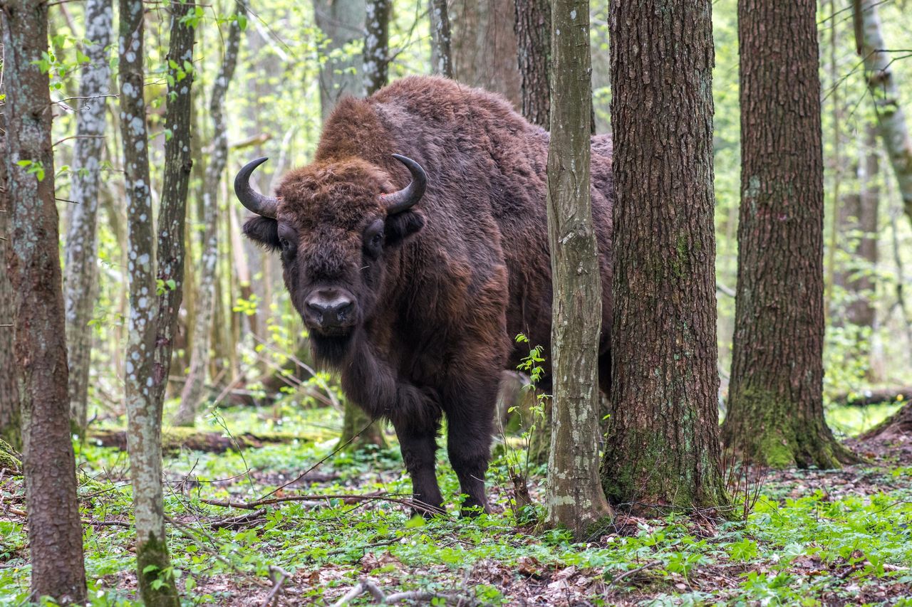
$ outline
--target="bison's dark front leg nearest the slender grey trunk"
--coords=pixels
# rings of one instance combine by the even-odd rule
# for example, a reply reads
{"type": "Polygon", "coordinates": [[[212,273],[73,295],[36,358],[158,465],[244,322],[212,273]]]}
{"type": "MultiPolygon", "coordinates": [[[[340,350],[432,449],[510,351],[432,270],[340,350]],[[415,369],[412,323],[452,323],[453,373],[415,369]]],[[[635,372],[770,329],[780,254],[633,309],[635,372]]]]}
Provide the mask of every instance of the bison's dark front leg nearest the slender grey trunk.
{"type": "Polygon", "coordinates": [[[492,377],[481,374],[455,382],[443,400],[447,414],[447,450],[450,464],[459,478],[462,516],[491,512],[484,490],[484,476],[491,459],[494,407],[500,369],[492,377]]]}

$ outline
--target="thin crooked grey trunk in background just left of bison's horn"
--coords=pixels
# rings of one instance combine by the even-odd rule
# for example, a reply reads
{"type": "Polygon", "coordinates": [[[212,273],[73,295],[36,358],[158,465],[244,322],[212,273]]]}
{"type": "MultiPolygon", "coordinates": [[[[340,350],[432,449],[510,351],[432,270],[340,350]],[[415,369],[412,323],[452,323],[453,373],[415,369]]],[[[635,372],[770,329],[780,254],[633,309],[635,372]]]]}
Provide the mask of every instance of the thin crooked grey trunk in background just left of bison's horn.
{"type": "MultiPolygon", "coordinates": [[[[244,15],[244,5],[236,5],[237,15],[244,15]]],[[[234,19],[229,25],[225,41],[222,67],[215,84],[212,86],[212,97],[209,101],[209,114],[212,117],[212,156],[206,164],[205,188],[202,191],[202,224],[205,231],[202,236],[202,262],[200,264],[200,288],[196,300],[196,318],[193,323],[193,338],[190,355],[190,373],[187,383],[181,391],[181,406],[174,416],[177,426],[192,426],[196,423],[197,406],[203,394],[203,383],[206,379],[206,366],[209,365],[209,349],[212,345],[212,316],[215,310],[216,267],[219,257],[219,205],[217,193],[219,181],[228,160],[228,135],[224,119],[224,103],[237,67],[237,56],[241,46],[241,27],[234,19]]]]}

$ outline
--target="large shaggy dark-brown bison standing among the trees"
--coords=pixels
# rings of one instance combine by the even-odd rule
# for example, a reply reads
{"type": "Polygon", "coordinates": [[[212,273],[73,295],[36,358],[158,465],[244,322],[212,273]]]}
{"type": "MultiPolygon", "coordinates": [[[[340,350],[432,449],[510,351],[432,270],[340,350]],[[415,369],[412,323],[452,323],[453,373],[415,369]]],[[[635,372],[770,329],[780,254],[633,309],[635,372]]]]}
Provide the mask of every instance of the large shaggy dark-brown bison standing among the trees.
{"type": "MultiPolygon", "coordinates": [[[[408,77],[345,98],[316,157],[275,198],[238,173],[256,213],[244,233],[280,252],[285,285],[321,365],[347,397],[396,428],[416,499],[441,509],[435,452],[447,417],[452,468],[488,510],[484,475],[503,369],[549,348],[551,264],[545,213],[548,134],[496,95],[440,77],[408,77]]],[[[611,326],[611,142],[592,139],[592,203],[608,383],[611,326]]]]}

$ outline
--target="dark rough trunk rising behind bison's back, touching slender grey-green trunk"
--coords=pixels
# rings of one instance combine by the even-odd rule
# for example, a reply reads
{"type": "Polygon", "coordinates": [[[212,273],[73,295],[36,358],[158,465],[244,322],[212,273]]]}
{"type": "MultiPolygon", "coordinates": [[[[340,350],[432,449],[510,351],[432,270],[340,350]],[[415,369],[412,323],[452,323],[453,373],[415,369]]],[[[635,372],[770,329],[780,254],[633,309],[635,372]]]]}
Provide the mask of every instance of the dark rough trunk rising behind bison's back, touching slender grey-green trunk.
{"type": "Polygon", "coordinates": [[[551,98],[551,2],[514,0],[516,14],[517,61],[523,116],[529,122],[549,129],[551,98]]]}

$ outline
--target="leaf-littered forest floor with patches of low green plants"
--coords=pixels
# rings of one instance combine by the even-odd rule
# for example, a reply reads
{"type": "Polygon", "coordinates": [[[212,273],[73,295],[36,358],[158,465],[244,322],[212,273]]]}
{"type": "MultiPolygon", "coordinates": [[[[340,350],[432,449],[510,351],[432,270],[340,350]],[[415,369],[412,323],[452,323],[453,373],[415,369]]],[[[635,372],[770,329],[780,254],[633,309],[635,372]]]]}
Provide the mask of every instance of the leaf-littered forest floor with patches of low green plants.
{"type": "MultiPolygon", "coordinates": [[[[352,597],[368,590],[424,604],[912,605],[912,440],[853,444],[870,462],[842,470],[753,470],[741,482],[742,497],[756,495],[746,520],[742,509],[728,521],[621,511],[605,535],[573,543],[513,515],[515,448],[495,449],[494,514],[460,520],[451,503],[450,516],[422,520],[389,500],[406,499],[409,490],[397,448],[340,453],[314,468],[333,451],[337,423],[328,410],[232,409],[201,429],[299,438],[167,455],[169,542],[185,604],[331,605],[346,596],[347,604],[368,604],[369,592],[352,597]],[[271,496],[294,500],[253,509],[203,501],[250,502],[309,468],[271,496]]],[[[444,454],[442,489],[455,502],[444,454]]],[[[89,443],[77,458],[91,604],[137,604],[126,455],[89,443]]],[[[543,468],[534,468],[530,485],[540,499],[543,468]]],[[[27,597],[24,509],[21,478],[0,478],[4,605],[27,597]]]]}

